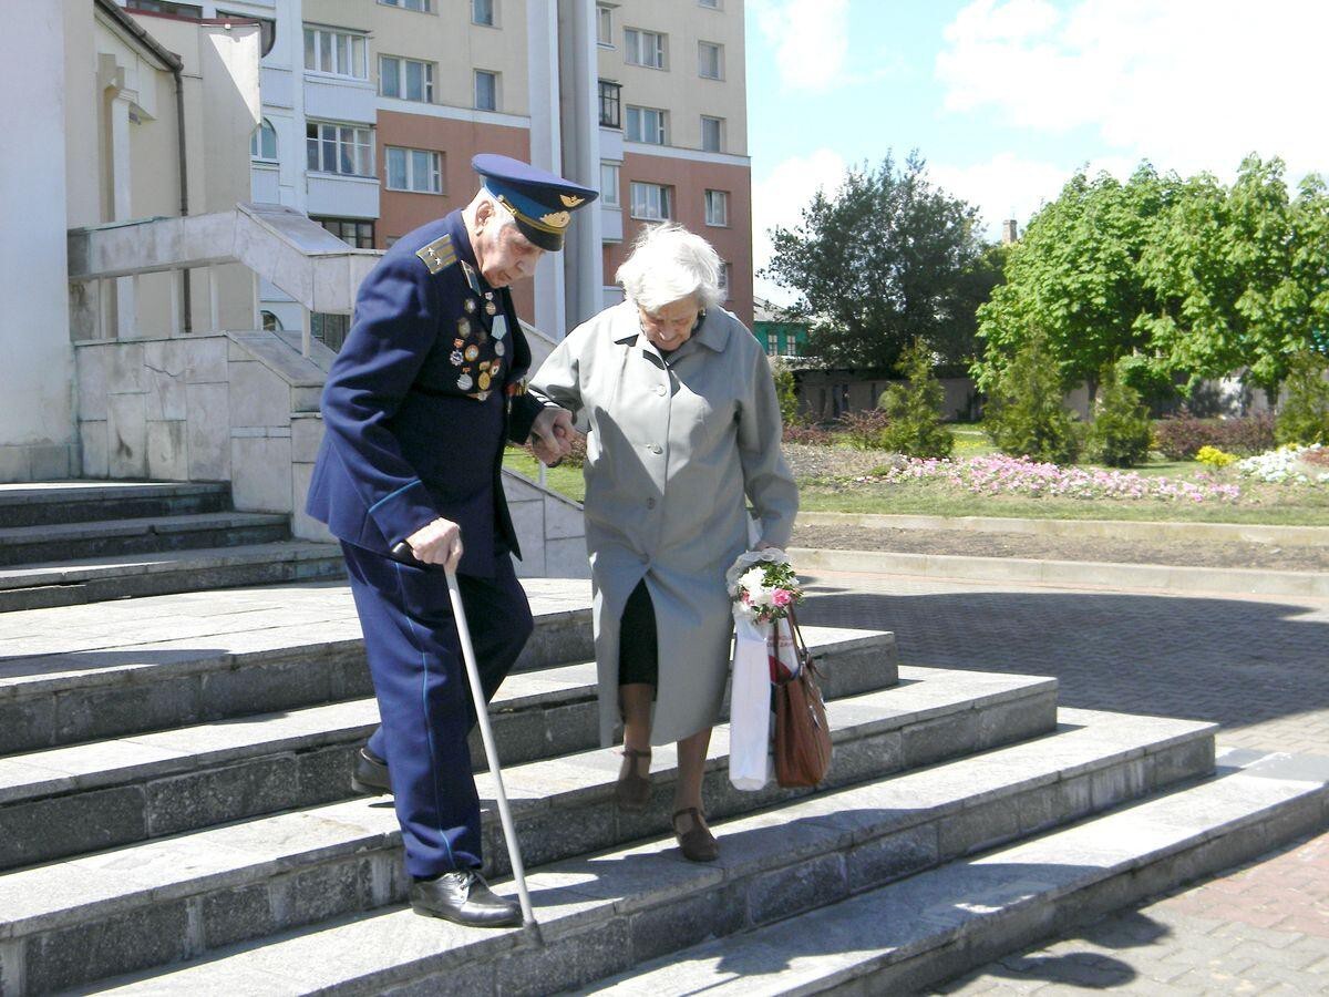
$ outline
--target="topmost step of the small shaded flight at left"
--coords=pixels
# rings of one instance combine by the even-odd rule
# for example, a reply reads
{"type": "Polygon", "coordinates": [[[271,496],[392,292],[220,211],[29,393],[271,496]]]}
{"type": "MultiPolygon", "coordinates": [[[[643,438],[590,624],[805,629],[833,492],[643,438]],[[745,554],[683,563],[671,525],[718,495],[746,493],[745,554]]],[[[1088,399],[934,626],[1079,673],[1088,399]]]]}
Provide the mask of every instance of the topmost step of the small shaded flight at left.
{"type": "Polygon", "coordinates": [[[231,489],[211,481],[31,481],[0,485],[0,526],[47,526],[225,512],[231,489]]]}

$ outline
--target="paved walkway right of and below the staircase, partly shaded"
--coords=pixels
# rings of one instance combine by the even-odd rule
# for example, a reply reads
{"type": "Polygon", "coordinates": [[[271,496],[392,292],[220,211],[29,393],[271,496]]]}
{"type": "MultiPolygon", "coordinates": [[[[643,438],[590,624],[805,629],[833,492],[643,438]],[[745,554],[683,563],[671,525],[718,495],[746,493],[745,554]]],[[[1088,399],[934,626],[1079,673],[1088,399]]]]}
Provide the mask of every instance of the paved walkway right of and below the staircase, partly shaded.
{"type": "MultiPolygon", "coordinates": [[[[910,665],[1057,675],[1065,706],[1216,720],[1329,755],[1329,600],[825,573],[808,623],[894,630],[910,665]]],[[[1329,994],[1329,832],[1035,949],[945,994],[1329,994]]]]}

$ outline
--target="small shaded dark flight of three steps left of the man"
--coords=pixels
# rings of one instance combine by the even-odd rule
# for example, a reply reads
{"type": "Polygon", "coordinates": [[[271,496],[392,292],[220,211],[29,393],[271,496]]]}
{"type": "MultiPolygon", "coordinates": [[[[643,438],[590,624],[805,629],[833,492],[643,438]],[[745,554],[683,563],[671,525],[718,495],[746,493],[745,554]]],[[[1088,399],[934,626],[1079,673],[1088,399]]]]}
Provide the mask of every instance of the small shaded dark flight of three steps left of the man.
{"type": "Polygon", "coordinates": [[[335,544],[234,512],[225,484],[0,485],[0,611],[343,576],[335,544]]]}

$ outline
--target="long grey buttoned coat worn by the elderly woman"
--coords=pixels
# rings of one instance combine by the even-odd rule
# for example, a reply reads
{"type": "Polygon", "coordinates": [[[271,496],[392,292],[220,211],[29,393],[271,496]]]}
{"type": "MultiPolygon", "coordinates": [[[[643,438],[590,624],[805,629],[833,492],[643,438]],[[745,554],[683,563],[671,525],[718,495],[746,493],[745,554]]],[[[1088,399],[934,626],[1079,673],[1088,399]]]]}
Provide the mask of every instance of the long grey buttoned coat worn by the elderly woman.
{"type": "Polygon", "coordinates": [[[776,546],[788,542],[799,506],[766,354],[734,315],[710,308],[666,362],[625,302],[573,330],[530,388],[589,427],[602,743],[619,723],[619,621],[642,578],[659,635],[651,743],[712,726],[734,630],[724,572],[748,546],[744,496],[760,538],[776,546]]]}

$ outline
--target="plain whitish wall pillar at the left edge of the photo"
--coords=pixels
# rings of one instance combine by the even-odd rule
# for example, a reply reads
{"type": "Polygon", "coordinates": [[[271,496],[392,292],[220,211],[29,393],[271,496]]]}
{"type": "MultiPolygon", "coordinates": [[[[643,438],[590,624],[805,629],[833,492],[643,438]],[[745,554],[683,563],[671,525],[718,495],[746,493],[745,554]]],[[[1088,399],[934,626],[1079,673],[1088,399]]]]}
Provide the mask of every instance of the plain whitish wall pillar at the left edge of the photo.
{"type": "MultiPolygon", "coordinates": [[[[11,0],[0,35],[9,134],[0,203],[0,481],[68,477],[74,439],[65,249],[65,25],[61,4],[11,0]]],[[[88,15],[92,16],[90,13],[88,15]]]]}

